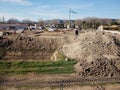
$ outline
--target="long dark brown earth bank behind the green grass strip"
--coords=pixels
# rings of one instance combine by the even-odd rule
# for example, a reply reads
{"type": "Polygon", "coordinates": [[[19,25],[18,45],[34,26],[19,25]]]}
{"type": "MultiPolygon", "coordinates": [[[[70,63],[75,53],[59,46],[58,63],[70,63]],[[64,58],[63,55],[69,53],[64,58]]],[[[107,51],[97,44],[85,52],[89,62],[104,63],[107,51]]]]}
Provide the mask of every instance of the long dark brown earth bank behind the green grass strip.
{"type": "Polygon", "coordinates": [[[53,52],[62,47],[67,37],[33,37],[17,35],[0,38],[0,59],[50,60],[53,52]]]}

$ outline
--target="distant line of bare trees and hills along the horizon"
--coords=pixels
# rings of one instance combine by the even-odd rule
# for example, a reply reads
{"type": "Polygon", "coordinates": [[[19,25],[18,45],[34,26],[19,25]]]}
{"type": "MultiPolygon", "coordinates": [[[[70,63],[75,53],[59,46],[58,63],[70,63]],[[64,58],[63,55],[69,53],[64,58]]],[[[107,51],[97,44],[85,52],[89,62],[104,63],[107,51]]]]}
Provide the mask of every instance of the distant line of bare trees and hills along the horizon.
{"type": "Polygon", "coordinates": [[[120,26],[120,19],[109,19],[109,18],[96,18],[96,17],[86,17],[84,19],[76,19],[76,20],[60,20],[60,19],[53,19],[53,20],[42,20],[39,19],[38,21],[32,21],[30,19],[25,19],[19,21],[18,19],[11,18],[8,21],[0,22],[0,23],[9,23],[9,24],[38,24],[39,26],[54,26],[58,28],[66,28],[67,25],[72,25],[72,28],[76,26],[83,29],[97,29],[100,25],[104,26],[111,26],[111,25],[118,25],[120,26]]]}

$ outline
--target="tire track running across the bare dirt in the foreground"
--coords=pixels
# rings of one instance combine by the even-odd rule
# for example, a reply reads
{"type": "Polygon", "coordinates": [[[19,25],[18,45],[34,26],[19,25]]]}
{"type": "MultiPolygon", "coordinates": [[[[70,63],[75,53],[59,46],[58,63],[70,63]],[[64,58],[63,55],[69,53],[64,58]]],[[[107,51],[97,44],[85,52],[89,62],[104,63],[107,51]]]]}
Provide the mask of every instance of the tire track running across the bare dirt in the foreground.
{"type": "Polygon", "coordinates": [[[25,80],[0,80],[0,85],[4,86],[37,86],[37,87],[58,87],[58,86],[71,86],[80,84],[95,84],[95,83],[110,83],[120,82],[120,77],[113,78],[72,78],[67,80],[52,80],[52,81],[37,81],[37,82],[26,82],[25,80]]]}

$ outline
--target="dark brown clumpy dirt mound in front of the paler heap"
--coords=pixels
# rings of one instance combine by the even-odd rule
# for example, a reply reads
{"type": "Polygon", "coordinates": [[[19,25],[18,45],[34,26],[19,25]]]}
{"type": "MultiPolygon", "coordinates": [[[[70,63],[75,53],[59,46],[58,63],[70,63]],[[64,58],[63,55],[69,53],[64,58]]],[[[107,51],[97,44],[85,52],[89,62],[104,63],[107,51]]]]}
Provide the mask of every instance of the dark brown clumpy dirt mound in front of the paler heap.
{"type": "Polygon", "coordinates": [[[120,75],[120,70],[115,65],[115,61],[109,60],[102,55],[90,56],[89,59],[87,59],[85,62],[76,65],[76,68],[81,68],[76,69],[80,76],[112,77],[120,75]],[[89,61],[89,59],[92,60],[90,62],[87,62],[89,61]]]}

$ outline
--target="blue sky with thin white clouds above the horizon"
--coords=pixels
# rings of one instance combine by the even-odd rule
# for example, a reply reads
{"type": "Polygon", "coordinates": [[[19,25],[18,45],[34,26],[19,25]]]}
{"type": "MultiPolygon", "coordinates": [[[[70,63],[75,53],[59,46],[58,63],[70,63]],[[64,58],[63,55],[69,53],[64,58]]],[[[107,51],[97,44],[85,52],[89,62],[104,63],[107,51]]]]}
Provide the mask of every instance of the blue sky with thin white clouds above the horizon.
{"type": "Polygon", "coordinates": [[[19,20],[72,19],[85,17],[120,19],[120,0],[0,0],[0,18],[19,20]]]}

